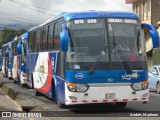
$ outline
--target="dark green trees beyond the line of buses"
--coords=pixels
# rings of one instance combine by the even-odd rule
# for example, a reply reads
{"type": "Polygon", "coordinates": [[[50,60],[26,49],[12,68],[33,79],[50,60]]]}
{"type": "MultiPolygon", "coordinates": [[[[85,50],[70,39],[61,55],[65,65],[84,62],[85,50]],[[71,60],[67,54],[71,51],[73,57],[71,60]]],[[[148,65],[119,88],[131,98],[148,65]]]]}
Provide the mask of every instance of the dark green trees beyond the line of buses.
{"type": "Polygon", "coordinates": [[[0,48],[3,44],[12,41],[15,36],[20,36],[26,31],[26,29],[15,30],[10,28],[4,28],[0,34],[0,48]]]}

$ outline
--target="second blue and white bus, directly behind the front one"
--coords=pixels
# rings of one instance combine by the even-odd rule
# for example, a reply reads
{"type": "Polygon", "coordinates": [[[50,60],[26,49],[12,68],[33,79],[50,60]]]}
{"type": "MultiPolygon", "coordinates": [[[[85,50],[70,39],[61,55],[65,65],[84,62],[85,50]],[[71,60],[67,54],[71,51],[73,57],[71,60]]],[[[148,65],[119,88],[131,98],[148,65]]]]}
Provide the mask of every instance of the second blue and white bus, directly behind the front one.
{"type": "Polygon", "coordinates": [[[27,83],[26,77],[26,55],[28,33],[22,34],[17,40],[14,40],[11,45],[12,49],[12,74],[14,82],[20,85],[27,83]]]}

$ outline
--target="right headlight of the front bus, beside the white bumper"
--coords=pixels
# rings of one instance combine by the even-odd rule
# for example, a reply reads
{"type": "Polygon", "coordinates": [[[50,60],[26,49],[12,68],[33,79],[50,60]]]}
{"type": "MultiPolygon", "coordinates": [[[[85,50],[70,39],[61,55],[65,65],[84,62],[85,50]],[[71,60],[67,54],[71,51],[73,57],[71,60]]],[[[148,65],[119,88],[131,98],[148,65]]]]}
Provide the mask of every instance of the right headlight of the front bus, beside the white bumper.
{"type": "Polygon", "coordinates": [[[143,82],[138,82],[138,83],[133,83],[131,85],[132,89],[135,91],[138,90],[146,90],[148,89],[148,81],[143,81],[143,82]]]}

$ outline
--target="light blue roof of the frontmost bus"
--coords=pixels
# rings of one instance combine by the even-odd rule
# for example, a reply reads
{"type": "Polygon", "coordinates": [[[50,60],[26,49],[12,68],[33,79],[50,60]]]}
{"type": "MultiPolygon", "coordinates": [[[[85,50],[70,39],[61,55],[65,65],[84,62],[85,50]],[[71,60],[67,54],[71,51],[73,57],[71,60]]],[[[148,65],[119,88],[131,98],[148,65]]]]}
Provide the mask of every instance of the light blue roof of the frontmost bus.
{"type": "Polygon", "coordinates": [[[140,20],[139,17],[133,12],[124,11],[83,11],[83,12],[63,12],[54,18],[51,18],[43,24],[31,28],[29,31],[37,29],[45,24],[55,21],[59,18],[64,18],[65,21],[74,19],[85,19],[85,18],[121,18],[121,19],[136,19],[140,20]]]}

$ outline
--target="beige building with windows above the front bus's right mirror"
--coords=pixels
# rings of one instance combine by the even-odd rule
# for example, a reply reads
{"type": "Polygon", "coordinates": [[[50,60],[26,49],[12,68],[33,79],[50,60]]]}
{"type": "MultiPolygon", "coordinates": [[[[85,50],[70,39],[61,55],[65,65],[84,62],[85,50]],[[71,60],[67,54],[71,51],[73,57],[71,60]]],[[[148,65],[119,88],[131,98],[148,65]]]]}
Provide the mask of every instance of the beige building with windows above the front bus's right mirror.
{"type": "Polygon", "coordinates": [[[142,23],[153,24],[158,28],[160,0],[130,0],[126,3],[133,4],[133,11],[141,18],[142,23]]]}

